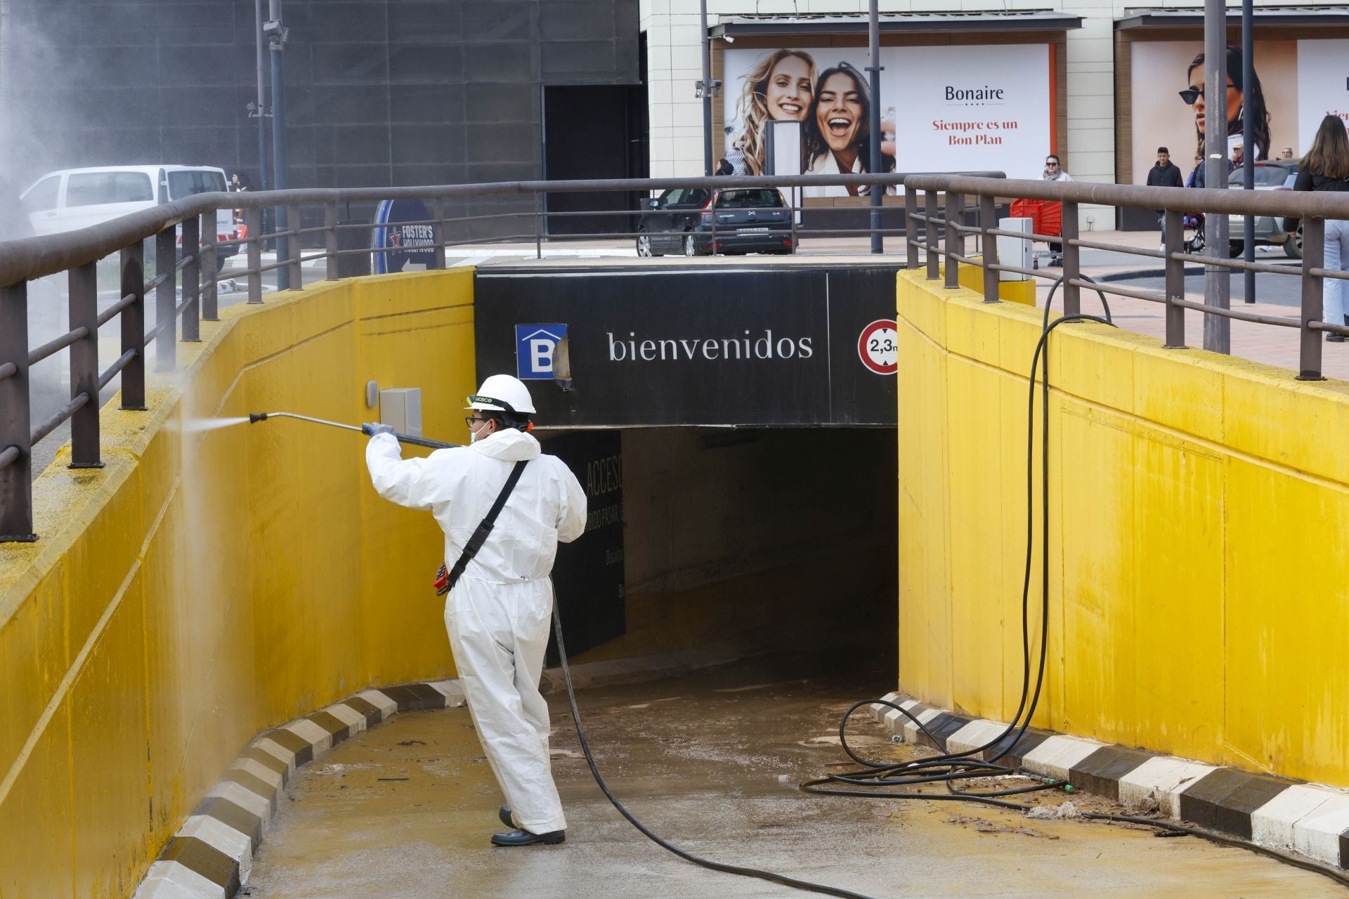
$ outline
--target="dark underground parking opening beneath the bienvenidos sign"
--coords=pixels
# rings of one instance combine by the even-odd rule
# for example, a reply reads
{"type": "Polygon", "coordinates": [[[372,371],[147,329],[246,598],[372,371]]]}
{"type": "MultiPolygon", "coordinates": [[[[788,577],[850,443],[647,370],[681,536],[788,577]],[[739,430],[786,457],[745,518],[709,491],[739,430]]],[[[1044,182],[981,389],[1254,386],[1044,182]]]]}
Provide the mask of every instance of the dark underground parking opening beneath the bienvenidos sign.
{"type": "Polygon", "coordinates": [[[592,527],[558,549],[554,569],[573,662],[843,648],[847,664],[897,670],[893,427],[575,437],[592,434],[621,434],[618,456],[610,442],[568,457],[580,449],[563,443],[571,434],[545,443],[569,464],[591,460],[575,470],[592,496],[592,527]],[[616,527],[608,511],[622,518],[616,527]],[[583,554],[580,571],[564,569],[583,554]]]}

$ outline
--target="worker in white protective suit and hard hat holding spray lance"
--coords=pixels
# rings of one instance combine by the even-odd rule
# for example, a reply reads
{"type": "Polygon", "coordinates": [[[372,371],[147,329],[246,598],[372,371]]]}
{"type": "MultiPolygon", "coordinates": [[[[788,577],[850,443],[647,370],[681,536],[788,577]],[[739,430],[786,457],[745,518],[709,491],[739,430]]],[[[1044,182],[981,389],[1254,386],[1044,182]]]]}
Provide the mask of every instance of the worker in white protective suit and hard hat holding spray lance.
{"type": "Polygon", "coordinates": [[[525,384],[492,375],[468,402],[469,446],[405,460],[393,429],[372,425],[366,464],[380,496],[430,509],[445,531],[445,565],[453,573],[515,462],[526,462],[495,526],[449,590],[445,629],[478,739],[506,795],[499,817],[515,828],[494,834],[492,844],[563,842],[567,821],[553,784],[548,702],[538,679],[553,611],[553,557],[558,540],[584,532],[585,492],[529,434],[534,403],[525,384]]]}

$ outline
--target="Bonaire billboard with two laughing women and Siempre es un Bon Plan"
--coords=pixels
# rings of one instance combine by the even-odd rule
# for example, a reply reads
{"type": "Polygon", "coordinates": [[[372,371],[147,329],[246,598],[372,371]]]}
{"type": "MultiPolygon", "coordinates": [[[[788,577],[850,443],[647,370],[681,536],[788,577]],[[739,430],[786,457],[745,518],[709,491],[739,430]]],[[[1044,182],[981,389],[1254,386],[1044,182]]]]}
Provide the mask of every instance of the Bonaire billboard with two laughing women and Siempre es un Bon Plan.
{"type": "MultiPolygon", "coordinates": [[[[881,164],[885,171],[1005,171],[1039,178],[1055,151],[1050,44],[881,49],[881,164]],[[959,73],[952,78],[951,73],[959,73]]],[[[722,174],[765,174],[772,121],[801,123],[801,171],[870,166],[870,96],[863,47],[724,50],[722,174]]],[[[808,187],[805,195],[865,194],[808,187]]]]}

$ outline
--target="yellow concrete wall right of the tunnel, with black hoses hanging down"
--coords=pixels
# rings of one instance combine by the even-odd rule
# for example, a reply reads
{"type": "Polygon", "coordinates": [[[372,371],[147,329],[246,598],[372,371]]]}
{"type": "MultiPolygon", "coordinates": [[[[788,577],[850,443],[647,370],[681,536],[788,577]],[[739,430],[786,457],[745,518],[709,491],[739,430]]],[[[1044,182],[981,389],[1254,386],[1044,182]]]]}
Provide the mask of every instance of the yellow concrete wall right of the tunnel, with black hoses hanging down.
{"type": "MultiPolygon", "coordinates": [[[[1040,314],[905,272],[897,303],[901,687],[1008,720],[1040,314]]],[[[1036,725],[1349,786],[1349,384],[1091,323],[1050,383],[1036,725]]]]}

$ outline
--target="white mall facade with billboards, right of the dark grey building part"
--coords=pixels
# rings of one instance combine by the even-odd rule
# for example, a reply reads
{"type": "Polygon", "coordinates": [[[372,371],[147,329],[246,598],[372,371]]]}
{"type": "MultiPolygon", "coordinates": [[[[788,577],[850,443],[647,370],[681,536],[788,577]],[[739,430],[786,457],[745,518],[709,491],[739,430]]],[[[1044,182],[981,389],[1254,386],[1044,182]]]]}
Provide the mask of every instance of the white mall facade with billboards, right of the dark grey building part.
{"type": "MultiPolygon", "coordinates": [[[[774,51],[803,51],[791,58],[797,61],[792,71],[800,74],[804,62],[813,67],[812,80],[840,63],[867,75],[867,0],[708,0],[707,7],[712,80],[722,82],[712,100],[718,164],[737,156],[745,132],[746,75],[774,51]]],[[[1159,146],[1183,171],[1194,167],[1194,106],[1179,92],[1202,84],[1202,69],[1190,71],[1202,50],[1202,5],[881,0],[880,8],[880,105],[894,121],[897,171],[1040,178],[1054,152],[1077,181],[1144,183],[1159,146]]],[[[699,174],[699,4],[642,0],[641,30],[650,173],[699,174]]],[[[1240,43],[1240,7],[1230,7],[1229,44],[1240,43]]],[[[1240,58],[1234,63],[1240,73],[1240,58]]],[[[1240,132],[1240,116],[1263,101],[1268,133],[1260,133],[1257,155],[1278,156],[1286,147],[1300,155],[1326,113],[1349,119],[1349,7],[1256,3],[1255,67],[1256,89],[1242,92],[1232,129],[1240,132]]],[[[1240,137],[1230,143],[1234,150],[1240,137]]],[[[1083,229],[1114,226],[1112,210],[1083,206],[1082,216],[1083,229]]]]}

